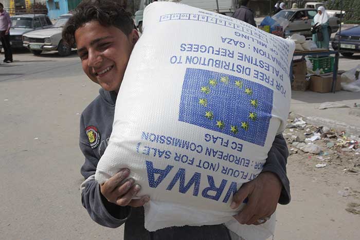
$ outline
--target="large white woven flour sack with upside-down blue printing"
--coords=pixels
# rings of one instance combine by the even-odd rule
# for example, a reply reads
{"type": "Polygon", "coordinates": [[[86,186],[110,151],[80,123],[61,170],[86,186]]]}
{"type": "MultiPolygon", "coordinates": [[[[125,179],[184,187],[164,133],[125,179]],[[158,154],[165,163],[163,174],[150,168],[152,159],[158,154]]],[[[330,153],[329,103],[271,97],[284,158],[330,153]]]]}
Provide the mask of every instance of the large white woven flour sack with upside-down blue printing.
{"type": "Polygon", "coordinates": [[[151,198],[150,231],[227,223],[245,238],[244,232],[271,235],[275,218],[241,226],[232,215],[243,205],[230,204],[241,184],[260,174],[285,128],[294,48],[293,41],[231,17],[150,4],[96,180],[129,168],[139,196],[151,198]]]}

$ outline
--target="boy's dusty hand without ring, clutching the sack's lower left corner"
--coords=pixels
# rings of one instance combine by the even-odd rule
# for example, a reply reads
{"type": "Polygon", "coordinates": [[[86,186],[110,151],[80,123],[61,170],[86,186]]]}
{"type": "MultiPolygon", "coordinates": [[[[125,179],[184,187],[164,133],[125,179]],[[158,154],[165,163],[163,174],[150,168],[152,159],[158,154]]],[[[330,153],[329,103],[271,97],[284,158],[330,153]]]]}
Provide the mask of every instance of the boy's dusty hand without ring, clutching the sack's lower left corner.
{"type": "Polygon", "coordinates": [[[123,182],[130,174],[128,169],[121,169],[117,174],[100,185],[101,194],[107,201],[119,206],[141,207],[150,200],[149,196],[142,196],[140,199],[132,199],[141,189],[139,184],[134,184],[130,178],[123,182]]]}

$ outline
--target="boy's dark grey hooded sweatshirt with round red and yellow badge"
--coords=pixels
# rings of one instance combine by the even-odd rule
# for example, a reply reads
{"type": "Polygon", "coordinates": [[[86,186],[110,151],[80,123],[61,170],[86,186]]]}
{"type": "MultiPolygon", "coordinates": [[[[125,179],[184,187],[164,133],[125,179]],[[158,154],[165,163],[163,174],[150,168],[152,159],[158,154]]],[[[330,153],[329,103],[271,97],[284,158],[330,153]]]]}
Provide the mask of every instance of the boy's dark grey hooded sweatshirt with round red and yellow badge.
{"type": "MultiPolygon", "coordinates": [[[[124,240],[230,240],[230,233],[222,224],[170,227],[149,232],[144,228],[142,207],[117,206],[102,196],[99,183],[95,181],[95,172],[112,132],[117,95],[102,88],[99,93],[100,95],[85,108],[80,120],[80,149],[85,156],[85,163],[81,168],[81,174],[85,179],[81,184],[81,201],[91,218],[109,228],[125,224],[124,240]]],[[[290,202],[290,183],[286,176],[288,155],[285,140],[281,135],[276,136],[262,170],[277,174],[281,180],[283,187],[279,204],[290,202]]]]}

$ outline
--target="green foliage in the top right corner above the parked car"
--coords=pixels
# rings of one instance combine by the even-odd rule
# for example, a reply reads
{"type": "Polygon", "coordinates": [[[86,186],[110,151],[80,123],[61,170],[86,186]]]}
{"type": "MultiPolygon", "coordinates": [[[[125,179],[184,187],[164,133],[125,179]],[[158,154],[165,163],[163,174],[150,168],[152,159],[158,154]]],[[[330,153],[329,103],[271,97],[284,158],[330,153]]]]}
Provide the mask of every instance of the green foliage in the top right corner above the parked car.
{"type": "Polygon", "coordinates": [[[360,21],[360,1],[359,0],[328,0],[328,9],[340,10],[341,5],[346,12],[344,21],[360,21]],[[343,2],[341,4],[341,2],[343,2]]]}

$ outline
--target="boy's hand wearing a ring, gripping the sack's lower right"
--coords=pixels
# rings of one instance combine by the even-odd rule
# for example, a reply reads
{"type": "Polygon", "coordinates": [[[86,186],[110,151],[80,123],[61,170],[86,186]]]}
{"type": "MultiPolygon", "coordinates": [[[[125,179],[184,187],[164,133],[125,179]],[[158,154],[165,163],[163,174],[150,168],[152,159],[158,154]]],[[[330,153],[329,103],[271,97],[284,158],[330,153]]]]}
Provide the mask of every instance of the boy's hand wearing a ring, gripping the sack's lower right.
{"type": "Polygon", "coordinates": [[[260,173],[257,178],[244,183],[233,196],[231,208],[240,206],[246,197],[247,204],[234,217],[240,224],[259,225],[275,212],[280,197],[282,184],[278,176],[272,172],[260,173]]]}

